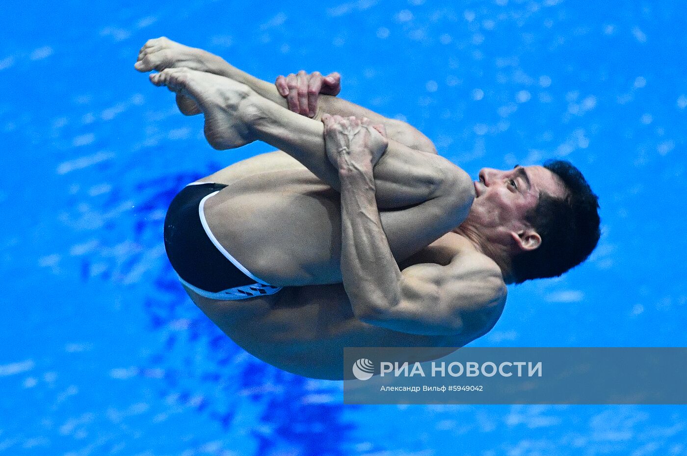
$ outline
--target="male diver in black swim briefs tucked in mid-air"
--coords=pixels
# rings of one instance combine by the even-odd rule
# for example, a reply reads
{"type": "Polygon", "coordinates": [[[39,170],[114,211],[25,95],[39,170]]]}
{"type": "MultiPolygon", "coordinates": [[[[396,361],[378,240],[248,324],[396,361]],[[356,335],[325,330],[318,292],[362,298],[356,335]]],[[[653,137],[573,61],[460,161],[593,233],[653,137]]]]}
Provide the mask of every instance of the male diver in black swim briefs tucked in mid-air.
{"type": "Polygon", "coordinates": [[[317,100],[333,76],[275,87],[167,38],[135,67],[203,113],[214,148],[280,149],[181,190],[165,244],[205,315],[286,371],[341,379],[343,347],[465,345],[499,319],[506,284],[561,275],[598,242],[598,200],[568,162],[473,182],[412,126],[317,100]]]}

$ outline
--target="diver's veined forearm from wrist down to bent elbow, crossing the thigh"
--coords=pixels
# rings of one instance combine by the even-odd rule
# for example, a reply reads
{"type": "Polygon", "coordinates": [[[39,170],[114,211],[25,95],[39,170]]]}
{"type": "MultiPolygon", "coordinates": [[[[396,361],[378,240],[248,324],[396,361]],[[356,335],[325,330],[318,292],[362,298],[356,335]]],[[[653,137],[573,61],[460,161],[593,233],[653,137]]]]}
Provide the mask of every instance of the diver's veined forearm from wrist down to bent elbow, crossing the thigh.
{"type": "Polygon", "coordinates": [[[372,167],[341,159],[341,275],[354,314],[372,320],[401,301],[402,275],[382,229],[372,167]]]}

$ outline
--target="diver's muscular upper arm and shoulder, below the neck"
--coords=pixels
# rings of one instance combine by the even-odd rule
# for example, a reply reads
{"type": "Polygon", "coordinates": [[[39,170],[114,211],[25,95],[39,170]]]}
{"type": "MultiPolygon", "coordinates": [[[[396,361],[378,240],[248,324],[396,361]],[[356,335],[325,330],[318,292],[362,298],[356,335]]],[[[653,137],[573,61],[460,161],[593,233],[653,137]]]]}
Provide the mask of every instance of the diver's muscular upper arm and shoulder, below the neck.
{"type": "Polygon", "coordinates": [[[507,290],[498,266],[476,260],[409,266],[398,303],[363,321],[412,334],[484,334],[499,317],[507,290]]]}

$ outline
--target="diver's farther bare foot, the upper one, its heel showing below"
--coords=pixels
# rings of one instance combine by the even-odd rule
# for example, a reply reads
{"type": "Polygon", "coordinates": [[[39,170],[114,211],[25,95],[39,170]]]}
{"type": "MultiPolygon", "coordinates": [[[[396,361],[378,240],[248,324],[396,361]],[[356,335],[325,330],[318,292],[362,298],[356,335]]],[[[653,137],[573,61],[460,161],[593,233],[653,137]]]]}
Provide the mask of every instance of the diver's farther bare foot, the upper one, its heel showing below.
{"type": "MultiPolygon", "coordinates": [[[[210,52],[188,47],[162,36],[146,41],[138,53],[134,68],[142,73],[146,71],[162,71],[167,68],[190,68],[198,71],[214,73],[221,66],[222,59],[210,52]]],[[[190,98],[177,93],[177,106],[185,115],[200,114],[201,109],[190,98]]]]}

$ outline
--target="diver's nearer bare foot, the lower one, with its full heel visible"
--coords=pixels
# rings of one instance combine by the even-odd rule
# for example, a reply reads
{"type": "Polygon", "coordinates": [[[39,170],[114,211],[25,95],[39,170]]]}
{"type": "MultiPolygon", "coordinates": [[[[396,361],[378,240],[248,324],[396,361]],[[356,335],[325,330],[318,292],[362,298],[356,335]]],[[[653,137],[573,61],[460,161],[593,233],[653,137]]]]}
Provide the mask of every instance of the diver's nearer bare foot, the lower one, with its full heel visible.
{"type": "Polygon", "coordinates": [[[245,84],[188,68],[168,68],[150,75],[150,82],[167,86],[193,100],[205,114],[205,139],[218,149],[232,149],[255,141],[251,132],[251,104],[255,93],[245,84]]]}

